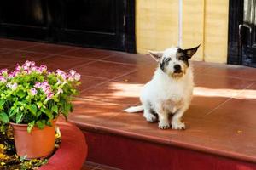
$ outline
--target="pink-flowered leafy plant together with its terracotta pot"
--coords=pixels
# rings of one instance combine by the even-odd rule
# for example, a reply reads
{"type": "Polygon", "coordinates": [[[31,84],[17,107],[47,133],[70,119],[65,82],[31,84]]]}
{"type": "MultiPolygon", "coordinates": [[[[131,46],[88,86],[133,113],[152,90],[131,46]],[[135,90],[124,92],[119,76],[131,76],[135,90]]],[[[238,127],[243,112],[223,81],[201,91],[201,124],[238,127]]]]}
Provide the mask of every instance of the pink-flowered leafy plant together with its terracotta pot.
{"type": "Polygon", "coordinates": [[[0,122],[14,129],[18,156],[46,157],[54,150],[55,122],[73,111],[80,75],[76,71],[48,71],[33,61],[0,71],[0,122]]]}

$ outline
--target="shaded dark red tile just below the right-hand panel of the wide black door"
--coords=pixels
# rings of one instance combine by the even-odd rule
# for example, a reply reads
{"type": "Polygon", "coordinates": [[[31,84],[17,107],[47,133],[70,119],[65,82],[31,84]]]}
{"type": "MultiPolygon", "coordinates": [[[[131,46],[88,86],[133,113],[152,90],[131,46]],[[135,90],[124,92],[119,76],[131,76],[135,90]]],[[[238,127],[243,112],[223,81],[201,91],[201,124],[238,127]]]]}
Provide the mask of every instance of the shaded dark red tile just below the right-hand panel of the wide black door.
{"type": "Polygon", "coordinates": [[[119,54],[119,52],[96,48],[77,48],[76,50],[63,53],[63,55],[81,57],[84,59],[102,59],[114,54],[119,54]]]}

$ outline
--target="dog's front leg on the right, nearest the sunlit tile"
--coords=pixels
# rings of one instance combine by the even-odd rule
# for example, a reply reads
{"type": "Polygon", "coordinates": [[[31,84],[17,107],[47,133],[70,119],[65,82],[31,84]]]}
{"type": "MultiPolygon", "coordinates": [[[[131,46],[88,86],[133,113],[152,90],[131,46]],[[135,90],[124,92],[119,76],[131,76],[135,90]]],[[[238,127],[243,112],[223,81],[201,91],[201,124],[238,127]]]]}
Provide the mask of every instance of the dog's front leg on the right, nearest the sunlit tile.
{"type": "Polygon", "coordinates": [[[184,105],[182,108],[178,109],[174,116],[172,116],[172,129],[184,130],[185,123],[181,122],[181,118],[185,111],[189,108],[189,105],[184,105]]]}

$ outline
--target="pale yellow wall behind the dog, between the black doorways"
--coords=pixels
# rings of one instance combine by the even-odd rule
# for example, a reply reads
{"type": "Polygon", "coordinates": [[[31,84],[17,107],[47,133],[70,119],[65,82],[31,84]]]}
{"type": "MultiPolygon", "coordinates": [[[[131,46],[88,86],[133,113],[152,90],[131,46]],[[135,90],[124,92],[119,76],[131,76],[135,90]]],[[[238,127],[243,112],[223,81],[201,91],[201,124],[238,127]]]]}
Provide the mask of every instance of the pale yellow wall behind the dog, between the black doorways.
{"type": "MultiPolygon", "coordinates": [[[[201,43],[195,60],[226,63],[228,0],[183,0],[182,48],[201,43]]],[[[137,0],[137,53],[177,46],[178,0],[137,0]]]]}

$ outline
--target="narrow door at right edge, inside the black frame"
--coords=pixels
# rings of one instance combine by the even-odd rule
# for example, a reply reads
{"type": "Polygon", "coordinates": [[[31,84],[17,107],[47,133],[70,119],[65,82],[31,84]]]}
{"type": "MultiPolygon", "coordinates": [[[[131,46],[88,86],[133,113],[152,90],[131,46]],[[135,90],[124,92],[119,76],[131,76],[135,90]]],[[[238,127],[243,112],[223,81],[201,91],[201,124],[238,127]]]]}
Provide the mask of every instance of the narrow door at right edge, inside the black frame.
{"type": "Polygon", "coordinates": [[[241,36],[242,65],[256,67],[256,0],[244,0],[241,36]]]}

